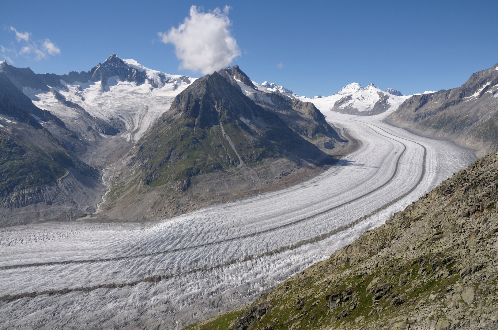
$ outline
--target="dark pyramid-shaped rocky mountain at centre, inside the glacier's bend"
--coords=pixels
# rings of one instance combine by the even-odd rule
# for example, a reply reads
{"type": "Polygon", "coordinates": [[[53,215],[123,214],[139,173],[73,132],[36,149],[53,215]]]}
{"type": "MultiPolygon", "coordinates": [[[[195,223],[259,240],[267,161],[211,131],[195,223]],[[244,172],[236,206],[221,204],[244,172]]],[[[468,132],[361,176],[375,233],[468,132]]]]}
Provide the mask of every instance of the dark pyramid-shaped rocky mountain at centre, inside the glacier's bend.
{"type": "Polygon", "coordinates": [[[103,205],[110,217],[171,216],[334,162],[312,140],[326,138],[328,149],[345,141],[311,103],[282,98],[288,113],[262,107],[242,92],[234,76],[250,82],[234,66],[196,80],[176,96],[117,170],[103,205]],[[306,130],[305,118],[315,126],[306,130]]]}

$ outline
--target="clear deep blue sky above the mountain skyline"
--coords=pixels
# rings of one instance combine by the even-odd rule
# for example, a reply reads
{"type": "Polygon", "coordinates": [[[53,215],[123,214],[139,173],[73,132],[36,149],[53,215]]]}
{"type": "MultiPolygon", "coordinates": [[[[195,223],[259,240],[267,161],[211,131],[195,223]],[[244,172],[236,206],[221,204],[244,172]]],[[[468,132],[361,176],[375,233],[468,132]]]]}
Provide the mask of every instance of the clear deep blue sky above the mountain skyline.
{"type": "Polygon", "coordinates": [[[174,46],[157,34],[178,27],[191,5],[231,6],[241,49],[232,64],[300,95],[330,95],[353,82],[404,94],[449,89],[498,62],[498,1],[3,1],[0,45],[14,66],[35,73],[88,71],[116,53],[198,77],[178,68],[174,46]],[[19,54],[24,40],[10,27],[31,33],[44,58],[19,54]]]}

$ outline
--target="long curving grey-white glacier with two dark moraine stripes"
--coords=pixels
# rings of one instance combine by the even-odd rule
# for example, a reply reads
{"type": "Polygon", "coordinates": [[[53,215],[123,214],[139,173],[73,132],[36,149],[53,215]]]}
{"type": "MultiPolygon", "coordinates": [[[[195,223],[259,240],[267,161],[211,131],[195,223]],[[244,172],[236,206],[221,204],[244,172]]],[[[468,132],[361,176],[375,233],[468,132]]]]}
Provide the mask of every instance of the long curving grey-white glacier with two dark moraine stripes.
{"type": "Polygon", "coordinates": [[[0,329],[181,329],[256,300],[476,158],[387,113],[322,112],[361,146],[302,184],[161,222],[1,229],[0,329]]]}

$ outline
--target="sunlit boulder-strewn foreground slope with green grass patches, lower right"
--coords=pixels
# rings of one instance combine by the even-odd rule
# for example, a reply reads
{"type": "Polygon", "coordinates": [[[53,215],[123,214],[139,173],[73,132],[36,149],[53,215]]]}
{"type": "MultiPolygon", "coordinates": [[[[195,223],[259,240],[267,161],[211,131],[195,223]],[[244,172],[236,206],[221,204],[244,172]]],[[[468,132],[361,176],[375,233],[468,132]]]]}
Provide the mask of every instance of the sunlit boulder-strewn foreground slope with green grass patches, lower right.
{"type": "Polygon", "coordinates": [[[244,308],[187,329],[498,329],[498,152],[244,308]]]}

